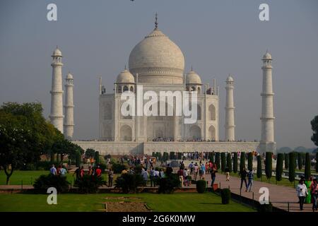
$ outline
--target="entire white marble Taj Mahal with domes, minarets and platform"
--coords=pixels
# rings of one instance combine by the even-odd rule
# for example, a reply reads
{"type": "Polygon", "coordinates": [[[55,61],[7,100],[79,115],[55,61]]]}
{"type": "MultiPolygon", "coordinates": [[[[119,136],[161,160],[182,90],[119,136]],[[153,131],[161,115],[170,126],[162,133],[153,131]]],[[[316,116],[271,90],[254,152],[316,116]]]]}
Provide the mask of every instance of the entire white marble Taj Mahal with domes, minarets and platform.
{"type": "MultiPolygon", "coordinates": [[[[52,124],[66,138],[73,140],[73,76],[65,78],[65,99],[62,81],[62,54],[57,48],[52,54],[52,124]],[[63,109],[64,108],[64,109],[63,109]]],[[[235,140],[234,78],[225,78],[226,104],[225,134],[219,133],[220,87],[213,79],[211,85],[203,83],[193,69],[184,71],[184,54],[158,28],[155,28],[131,50],[128,69],[121,71],[114,81],[114,90],[107,92],[100,78],[99,85],[99,137],[94,141],[72,141],[82,148],[93,148],[100,154],[149,154],[153,152],[235,152],[235,151],[275,151],[273,88],[271,54],[262,57],[263,90],[261,92],[261,138],[254,142],[235,140]],[[143,87],[140,90],[138,87],[143,87]],[[184,124],[184,116],[175,114],[177,97],[173,99],[172,114],[165,116],[123,116],[121,107],[123,93],[132,93],[136,102],[145,104],[143,94],[147,91],[175,91],[196,93],[196,121],[184,124]],[[141,98],[137,98],[140,97],[141,98]]],[[[76,83],[75,83],[76,84],[76,83]]],[[[76,96],[75,96],[76,98],[76,96]]],[[[158,112],[161,105],[158,101],[158,112]]],[[[134,109],[137,111],[137,109],[134,109]]],[[[167,111],[167,107],[163,111],[167,111]]],[[[255,122],[257,123],[257,122],[255,122]]]]}

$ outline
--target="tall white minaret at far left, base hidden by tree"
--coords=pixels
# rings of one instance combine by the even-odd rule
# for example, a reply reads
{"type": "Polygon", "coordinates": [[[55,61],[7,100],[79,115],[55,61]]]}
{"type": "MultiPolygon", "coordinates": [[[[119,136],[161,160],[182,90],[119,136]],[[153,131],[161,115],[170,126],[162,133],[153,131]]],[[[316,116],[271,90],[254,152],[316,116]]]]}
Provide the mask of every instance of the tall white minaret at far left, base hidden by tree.
{"type": "Polygon", "coordinates": [[[63,133],[63,90],[61,62],[62,54],[57,48],[52,54],[52,90],[51,90],[51,114],[49,119],[51,123],[63,133]]]}

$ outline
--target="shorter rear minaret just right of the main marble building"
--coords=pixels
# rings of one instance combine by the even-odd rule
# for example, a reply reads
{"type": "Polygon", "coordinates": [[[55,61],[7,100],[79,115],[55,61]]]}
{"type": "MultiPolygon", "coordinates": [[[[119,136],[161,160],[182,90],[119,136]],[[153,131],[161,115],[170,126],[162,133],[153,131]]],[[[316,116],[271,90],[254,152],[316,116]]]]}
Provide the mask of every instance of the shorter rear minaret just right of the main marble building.
{"type": "Polygon", "coordinates": [[[225,141],[235,141],[235,124],[234,124],[234,79],[228,76],[225,81],[226,86],[226,104],[225,104],[225,141]]]}

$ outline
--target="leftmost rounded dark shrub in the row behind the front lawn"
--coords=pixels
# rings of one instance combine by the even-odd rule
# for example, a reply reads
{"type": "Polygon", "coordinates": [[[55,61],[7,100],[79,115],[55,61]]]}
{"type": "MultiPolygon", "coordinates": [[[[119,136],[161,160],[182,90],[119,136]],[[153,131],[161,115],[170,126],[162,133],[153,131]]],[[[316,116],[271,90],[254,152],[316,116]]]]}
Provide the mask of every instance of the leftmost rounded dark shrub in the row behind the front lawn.
{"type": "Polygon", "coordinates": [[[49,187],[54,187],[57,192],[62,193],[69,190],[69,182],[66,177],[59,177],[53,174],[41,175],[39,178],[35,179],[33,187],[44,193],[47,192],[49,187]]]}

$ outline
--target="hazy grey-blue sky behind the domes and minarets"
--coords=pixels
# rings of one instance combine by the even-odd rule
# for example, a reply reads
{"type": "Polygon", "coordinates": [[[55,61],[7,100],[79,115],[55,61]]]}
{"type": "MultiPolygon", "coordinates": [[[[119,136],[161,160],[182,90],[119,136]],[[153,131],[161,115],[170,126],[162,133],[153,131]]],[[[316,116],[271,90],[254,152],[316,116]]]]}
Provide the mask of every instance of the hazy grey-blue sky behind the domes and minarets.
{"type": "Polygon", "coordinates": [[[98,77],[107,93],[128,65],[134,45],[154,27],[184,53],[204,83],[220,85],[224,138],[225,78],[235,78],[235,135],[260,138],[261,57],[273,57],[278,147],[313,147],[310,120],[318,114],[318,1],[0,1],[0,103],[42,102],[49,115],[52,52],[59,45],[64,78],[74,76],[75,134],[98,137],[98,77]],[[47,4],[58,20],[47,20],[47,4]],[[269,4],[270,21],[259,20],[269,4]]]}

